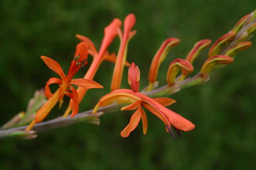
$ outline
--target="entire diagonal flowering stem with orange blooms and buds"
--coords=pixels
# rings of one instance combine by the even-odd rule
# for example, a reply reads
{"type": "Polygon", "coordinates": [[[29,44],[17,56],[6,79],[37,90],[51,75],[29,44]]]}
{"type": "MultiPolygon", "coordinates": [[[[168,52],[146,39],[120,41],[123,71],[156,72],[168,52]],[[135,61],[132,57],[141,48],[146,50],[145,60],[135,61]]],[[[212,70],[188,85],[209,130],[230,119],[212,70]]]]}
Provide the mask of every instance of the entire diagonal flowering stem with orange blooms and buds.
{"type": "MultiPolygon", "coordinates": [[[[14,117],[11,121],[7,122],[7,124],[2,127],[2,130],[0,130],[0,138],[20,137],[31,139],[36,137],[36,131],[57,129],[79,122],[88,122],[99,125],[98,117],[101,116],[103,113],[109,113],[119,109],[122,104],[117,103],[130,102],[132,102],[132,104],[122,107],[121,110],[137,109],[137,111],[134,112],[131,117],[130,123],[121,132],[122,137],[129,136],[129,133],[136,128],[140,119],[142,119],[143,123],[143,132],[144,134],[146,134],[147,117],[142,109],[142,106],[155,114],[162,121],[164,121],[164,124],[166,125],[166,130],[169,131],[173,137],[174,134],[171,130],[171,125],[174,126],[176,133],[181,137],[179,130],[190,131],[194,129],[194,124],[184,119],[179,114],[176,114],[164,107],[172,104],[173,102],[175,102],[175,100],[159,96],[174,94],[176,92],[179,92],[182,88],[206,83],[209,80],[210,75],[215,70],[227,64],[233,63],[234,57],[238,52],[251,47],[251,42],[248,40],[256,32],[256,11],[244,16],[242,19],[239,20],[239,22],[237,22],[235,27],[229,33],[221,36],[219,39],[216,40],[216,42],[213,44],[213,46],[211,46],[211,49],[209,51],[209,58],[204,62],[200,72],[197,73],[194,77],[187,78],[187,75],[191,73],[194,69],[192,63],[195,58],[199,56],[202,50],[206,49],[210,45],[211,40],[209,39],[198,41],[191,49],[185,60],[177,58],[176,60],[171,62],[167,71],[168,84],[156,88],[156,80],[160,64],[164,61],[164,58],[167,56],[169,49],[179,44],[179,39],[173,37],[164,41],[152,61],[149,70],[149,86],[145,87],[144,90],[142,90],[141,92],[138,92],[140,78],[139,68],[134,63],[132,63],[132,66],[130,67],[128,73],[128,82],[132,90],[119,89],[123,67],[124,65],[127,65],[127,44],[129,39],[132,38],[132,36],[134,36],[134,34],[136,33],[135,31],[131,31],[133,25],[135,24],[135,16],[132,14],[127,16],[124,22],[123,34],[119,29],[120,24],[121,22],[116,19],[113,21],[112,24],[106,27],[105,37],[102,43],[103,47],[99,50],[99,53],[97,53],[94,45],[87,37],[79,36],[80,39],[82,39],[82,41],[84,42],[77,45],[77,51],[75,53],[73,61],[71,62],[70,70],[67,76],[63,73],[62,68],[56,61],[42,56],[41,58],[46,63],[46,65],[50,69],[58,73],[61,79],[50,78],[49,81],[46,83],[45,96],[49,100],[47,100],[47,102],[39,109],[39,111],[37,111],[37,113],[35,114],[35,118],[33,118],[33,121],[30,123],[30,126],[21,126],[21,124],[18,124],[18,126],[21,127],[5,129],[12,126],[17,126],[16,123],[19,122],[20,119],[22,119],[22,117],[24,116],[24,113],[18,114],[16,117],[14,117]],[[115,56],[109,55],[106,49],[117,34],[119,34],[120,36],[121,46],[119,49],[119,54],[116,58],[115,56]],[[89,76],[87,76],[87,73],[87,75],[85,75],[85,79],[72,79],[73,75],[77,72],[77,70],[87,64],[88,53],[94,56],[94,59],[98,58],[99,60],[95,66],[92,64],[93,67],[91,70],[93,70],[93,72],[90,73],[89,71],[89,76]],[[114,81],[112,81],[112,90],[114,91],[103,96],[93,110],[88,110],[86,112],[77,114],[78,104],[82,100],[82,97],[85,95],[87,89],[102,88],[101,85],[92,81],[92,78],[94,77],[94,74],[96,73],[97,68],[99,67],[99,64],[103,59],[109,61],[116,61],[115,71],[113,74],[114,81]],[[179,70],[181,70],[181,75],[179,77],[176,77],[179,73],[179,70]],[[49,85],[52,83],[57,83],[60,85],[59,89],[54,94],[50,92],[49,88],[49,85]],[[77,85],[78,87],[80,87],[80,89],[76,90],[74,87],[71,86],[72,84],[77,85]],[[84,90],[81,91],[81,88],[83,88],[84,90]],[[40,121],[42,121],[47,116],[47,114],[58,101],[60,101],[61,106],[63,102],[62,98],[64,95],[69,96],[72,100],[64,117],[58,117],[56,119],[40,123],[40,121]],[[152,97],[159,98],[153,99],[152,97]],[[72,109],[73,111],[71,116],[68,116],[69,112],[72,109]],[[33,130],[31,130],[32,127],[33,130]],[[26,131],[24,131],[24,129],[26,129],[26,131]]],[[[31,115],[33,116],[34,113],[31,112],[31,115]]],[[[27,121],[28,119],[30,119],[30,117],[27,117],[27,119],[25,120],[27,121]]]]}

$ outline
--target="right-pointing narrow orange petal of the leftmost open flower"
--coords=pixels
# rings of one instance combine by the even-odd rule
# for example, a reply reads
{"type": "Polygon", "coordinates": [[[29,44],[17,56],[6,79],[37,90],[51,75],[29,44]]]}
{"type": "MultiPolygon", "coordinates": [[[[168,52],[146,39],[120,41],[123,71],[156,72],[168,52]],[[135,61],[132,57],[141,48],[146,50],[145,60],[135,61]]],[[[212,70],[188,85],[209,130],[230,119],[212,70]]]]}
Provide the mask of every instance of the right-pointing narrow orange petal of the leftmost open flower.
{"type": "Polygon", "coordinates": [[[100,85],[99,83],[96,83],[93,80],[84,79],[84,78],[73,79],[73,80],[71,80],[70,83],[73,85],[76,85],[78,87],[85,88],[85,89],[103,88],[103,86],[100,85]]]}

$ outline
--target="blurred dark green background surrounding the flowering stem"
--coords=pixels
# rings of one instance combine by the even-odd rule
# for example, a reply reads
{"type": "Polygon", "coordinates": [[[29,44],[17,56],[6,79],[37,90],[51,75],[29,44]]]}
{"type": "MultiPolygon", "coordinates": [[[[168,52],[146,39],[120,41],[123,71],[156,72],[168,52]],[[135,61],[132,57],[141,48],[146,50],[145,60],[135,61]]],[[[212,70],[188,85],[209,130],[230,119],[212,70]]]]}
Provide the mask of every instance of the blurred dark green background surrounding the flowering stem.
{"type": "MultiPolygon", "coordinates": [[[[99,48],[104,27],[114,17],[123,20],[134,13],[137,35],[130,41],[127,60],[139,66],[141,88],[148,83],[149,66],[162,41],[171,36],[181,39],[160,68],[158,79],[164,85],[174,58],[184,58],[200,39],[215,41],[255,8],[255,0],[1,0],[0,124],[25,110],[35,90],[56,76],[41,55],[60,62],[67,72],[79,42],[75,34],[88,36],[99,48]]],[[[0,169],[255,169],[256,38],[251,41],[251,49],[239,53],[233,64],[217,71],[208,83],[170,96],[177,103],[169,108],[196,124],[193,131],[183,134],[183,140],[173,140],[162,121],[149,112],[146,136],[140,123],[129,138],[122,138],[119,133],[132,112],[113,112],[100,117],[100,126],[81,123],[39,133],[30,141],[1,140],[0,169]]],[[[109,50],[117,52],[118,46],[115,39],[109,50]]],[[[196,71],[206,58],[207,50],[196,60],[196,71]]],[[[87,68],[76,77],[82,77],[87,68]]],[[[104,90],[89,90],[80,111],[91,109],[109,92],[113,68],[112,63],[102,64],[94,80],[104,90]]],[[[122,87],[127,85],[125,68],[122,87]]],[[[67,101],[47,119],[61,115],[67,101]]]]}

